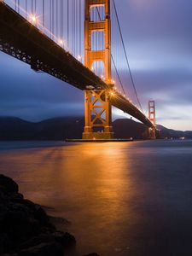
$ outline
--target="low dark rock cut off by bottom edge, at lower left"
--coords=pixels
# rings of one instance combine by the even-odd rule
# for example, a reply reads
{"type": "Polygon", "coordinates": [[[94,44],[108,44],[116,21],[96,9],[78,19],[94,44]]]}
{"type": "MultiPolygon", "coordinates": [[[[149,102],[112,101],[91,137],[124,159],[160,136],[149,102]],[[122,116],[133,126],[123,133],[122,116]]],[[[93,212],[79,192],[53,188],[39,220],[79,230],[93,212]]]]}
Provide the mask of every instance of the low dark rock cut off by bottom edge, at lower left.
{"type": "Polygon", "coordinates": [[[63,250],[59,243],[40,243],[35,247],[21,250],[18,256],[63,256],[63,250]]]}

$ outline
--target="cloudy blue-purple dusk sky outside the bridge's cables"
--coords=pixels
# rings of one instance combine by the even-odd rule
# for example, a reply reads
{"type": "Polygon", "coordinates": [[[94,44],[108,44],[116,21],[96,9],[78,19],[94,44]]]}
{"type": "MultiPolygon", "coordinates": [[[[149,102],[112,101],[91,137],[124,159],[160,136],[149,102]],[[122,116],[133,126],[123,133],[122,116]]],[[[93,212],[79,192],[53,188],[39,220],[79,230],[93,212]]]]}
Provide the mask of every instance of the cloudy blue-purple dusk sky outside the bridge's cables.
{"type": "MultiPolygon", "coordinates": [[[[116,6],[144,111],[153,99],[158,124],[192,130],[192,1],[116,0],[116,6]]],[[[0,116],[83,116],[81,90],[2,52],[0,66],[0,116]]],[[[124,116],[113,109],[113,119],[124,116]]]]}

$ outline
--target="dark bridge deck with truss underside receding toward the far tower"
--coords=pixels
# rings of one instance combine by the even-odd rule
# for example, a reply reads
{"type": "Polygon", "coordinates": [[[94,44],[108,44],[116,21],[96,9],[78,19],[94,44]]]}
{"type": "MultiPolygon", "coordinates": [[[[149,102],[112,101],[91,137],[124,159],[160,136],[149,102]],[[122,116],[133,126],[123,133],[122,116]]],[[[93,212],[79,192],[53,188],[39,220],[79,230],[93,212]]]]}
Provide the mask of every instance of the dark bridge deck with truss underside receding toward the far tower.
{"type": "MultiPolygon", "coordinates": [[[[34,70],[49,73],[80,90],[86,90],[90,85],[95,90],[109,88],[73,55],[3,2],[0,2],[0,50],[26,62],[34,70]]],[[[111,103],[148,127],[153,127],[150,120],[118,92],[111,97],[111,103]]]]}

